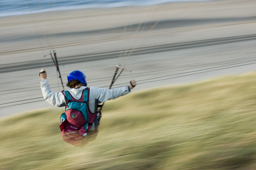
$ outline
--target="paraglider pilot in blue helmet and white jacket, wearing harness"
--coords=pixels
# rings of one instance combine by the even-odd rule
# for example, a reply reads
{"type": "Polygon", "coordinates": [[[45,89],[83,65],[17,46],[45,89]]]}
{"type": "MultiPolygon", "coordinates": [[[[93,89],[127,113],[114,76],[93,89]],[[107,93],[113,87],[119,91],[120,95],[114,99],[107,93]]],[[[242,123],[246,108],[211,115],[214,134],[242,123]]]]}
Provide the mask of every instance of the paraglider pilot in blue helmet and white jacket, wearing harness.
{"type": "Polygon", "coordinates": [[[136,86],[133,79],[127,86],[120,88],[87,87],[86,77],[81,71],[73,71],[67,75],[68,91],[52,92],[48,84],[47,73],[41,69],[40,77],[43,98],[53,106],[66,106],[61,116],[61,131],[64,141],[80,146],[90,132],[97,133],[101,115],[97,106],[107,100],[128,94],[136,86]]]}

